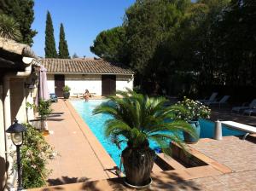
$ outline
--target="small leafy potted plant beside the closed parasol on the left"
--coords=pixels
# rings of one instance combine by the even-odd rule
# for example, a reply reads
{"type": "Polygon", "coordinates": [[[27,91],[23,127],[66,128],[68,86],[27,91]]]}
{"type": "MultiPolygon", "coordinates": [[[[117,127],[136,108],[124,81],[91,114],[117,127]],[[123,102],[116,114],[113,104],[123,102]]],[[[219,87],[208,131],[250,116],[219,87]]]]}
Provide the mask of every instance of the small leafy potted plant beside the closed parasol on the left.
{"type": "Polygon", "coordinates": [[[44,101],[40,100],[38,104],[38,114],[40,115],[40,119],[42,122],[41,129],[45,130],[46,126],[46,119],[49,116],[49,114],[52,112],[52,109],[50,108],[51,101],[44,101]]]}

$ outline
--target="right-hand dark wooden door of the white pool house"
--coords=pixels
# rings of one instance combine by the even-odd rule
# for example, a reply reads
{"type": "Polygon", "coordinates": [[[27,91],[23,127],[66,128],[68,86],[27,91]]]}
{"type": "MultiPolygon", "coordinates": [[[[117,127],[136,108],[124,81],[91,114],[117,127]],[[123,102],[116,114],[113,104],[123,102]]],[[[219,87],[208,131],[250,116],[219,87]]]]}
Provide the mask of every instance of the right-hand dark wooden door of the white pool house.
{"type": "Polygon", "coordinates": [[[115,95],[116,91],[116,76],[102,75],[102,96],[115,95]]]}

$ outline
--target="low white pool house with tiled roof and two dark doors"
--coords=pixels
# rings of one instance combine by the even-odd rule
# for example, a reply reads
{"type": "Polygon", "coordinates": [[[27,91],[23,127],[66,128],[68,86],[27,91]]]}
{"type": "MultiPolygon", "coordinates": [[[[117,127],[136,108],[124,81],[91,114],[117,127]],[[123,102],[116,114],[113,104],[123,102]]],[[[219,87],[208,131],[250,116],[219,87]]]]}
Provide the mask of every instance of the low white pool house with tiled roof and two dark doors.
{"type": "Polygon", "coordinates": [[[113,95],[116,90],[133,88],[133,75],[129,68],[102,59],[42,59],[47,69],[49,93],[63,96],[68,85],[71,96],[83,94],[87,89],[96,96],[113,95]]]}

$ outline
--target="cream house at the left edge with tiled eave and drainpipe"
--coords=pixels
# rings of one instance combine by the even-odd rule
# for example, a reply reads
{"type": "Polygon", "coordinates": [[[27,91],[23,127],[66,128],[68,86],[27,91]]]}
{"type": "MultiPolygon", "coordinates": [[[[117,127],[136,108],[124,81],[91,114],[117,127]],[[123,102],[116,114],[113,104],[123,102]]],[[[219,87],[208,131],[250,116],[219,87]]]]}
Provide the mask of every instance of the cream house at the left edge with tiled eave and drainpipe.
{"type": "Polygon", "coordinates": [[[26,44],[0,38],[0,190],[13,187],[15,177],[10,174],[15,147],[5,130],[15,119],[24,123],[33,118],[32,108],[37,94],[38,57],[26,44]]]}

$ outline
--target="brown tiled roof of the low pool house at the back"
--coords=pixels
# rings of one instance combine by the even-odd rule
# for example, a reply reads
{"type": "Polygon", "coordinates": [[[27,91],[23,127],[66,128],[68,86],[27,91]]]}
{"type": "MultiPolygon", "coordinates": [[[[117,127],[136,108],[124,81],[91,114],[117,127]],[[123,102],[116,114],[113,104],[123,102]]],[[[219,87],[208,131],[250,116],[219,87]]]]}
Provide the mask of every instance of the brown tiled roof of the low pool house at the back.
{"type": "Polygon", "coordinates": [[[47,72],[54,73],[108,73],[133,74],[131,69],[119,64],[93,59],[42,59],[47,72]]]}

